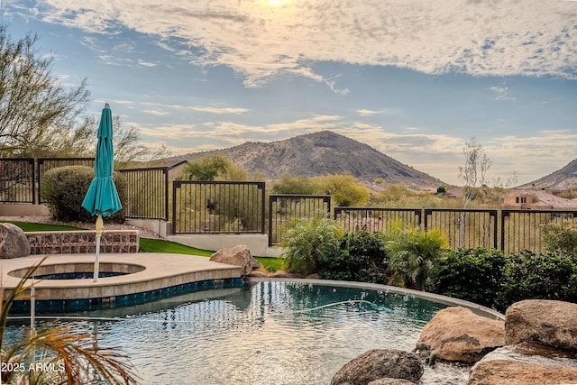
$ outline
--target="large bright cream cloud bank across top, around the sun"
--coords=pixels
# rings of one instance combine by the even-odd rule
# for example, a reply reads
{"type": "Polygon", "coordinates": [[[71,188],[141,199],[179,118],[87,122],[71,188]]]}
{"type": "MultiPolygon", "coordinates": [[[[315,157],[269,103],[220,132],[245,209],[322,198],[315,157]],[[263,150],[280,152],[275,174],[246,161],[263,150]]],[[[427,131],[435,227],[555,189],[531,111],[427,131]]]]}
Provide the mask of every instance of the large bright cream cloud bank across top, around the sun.
{"type": "MultiPolygon", "coordinates": [[[[38,5],[41,6],[40,3],[38,5]]],[[[46,0],[38,17],[94,34],[133,31],[197,66],[227,66],[246,87],[282,74],[322,81],[319,61],[398,66],[438,74],[577,78],[572,2],[503,0],[46,0]]],[[[101,48],[102,49],[102,48],[101,48]]],[[[111,60],[103,54],[103,59],[111,60]]]]}

